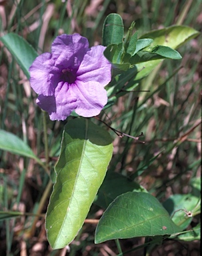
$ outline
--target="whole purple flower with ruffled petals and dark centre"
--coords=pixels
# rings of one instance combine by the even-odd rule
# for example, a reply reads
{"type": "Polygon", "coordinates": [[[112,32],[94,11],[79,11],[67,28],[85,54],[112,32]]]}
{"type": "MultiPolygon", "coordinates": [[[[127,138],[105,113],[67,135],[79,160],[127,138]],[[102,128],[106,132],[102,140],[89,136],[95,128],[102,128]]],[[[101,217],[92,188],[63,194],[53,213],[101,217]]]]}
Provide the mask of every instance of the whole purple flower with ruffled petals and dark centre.
{"type": "Polygon", "coordinates": [[[30,84],[39,94],[37,104],[51,120],[65,120],[73,110],[83,117],[98,115],[107,103],[104,86],[111,81],[105,47],[89,48],[79,34],[60,35],[51,53],[43,53],[29,68],[30,84]]]}

